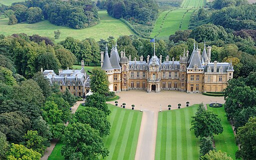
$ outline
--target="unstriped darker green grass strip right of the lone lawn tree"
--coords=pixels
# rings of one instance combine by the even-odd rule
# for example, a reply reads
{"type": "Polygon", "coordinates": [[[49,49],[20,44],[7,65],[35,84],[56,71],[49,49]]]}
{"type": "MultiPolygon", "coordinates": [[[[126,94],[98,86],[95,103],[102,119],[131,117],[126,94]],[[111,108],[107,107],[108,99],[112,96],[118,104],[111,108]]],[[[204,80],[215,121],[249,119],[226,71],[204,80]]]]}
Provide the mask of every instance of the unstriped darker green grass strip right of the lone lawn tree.
{"type": "Polygon", "coordinates": [[[216,150],[227,152],[228,155],[235,159],[235,151],[238,149],[238,146],[235,145],[233,130],[231,124],[226,119],[224,106],[213,108],[207,105],[207,109],[218,114],[223,126],[223,132],[221,134],[214,135],[216,150]]]}

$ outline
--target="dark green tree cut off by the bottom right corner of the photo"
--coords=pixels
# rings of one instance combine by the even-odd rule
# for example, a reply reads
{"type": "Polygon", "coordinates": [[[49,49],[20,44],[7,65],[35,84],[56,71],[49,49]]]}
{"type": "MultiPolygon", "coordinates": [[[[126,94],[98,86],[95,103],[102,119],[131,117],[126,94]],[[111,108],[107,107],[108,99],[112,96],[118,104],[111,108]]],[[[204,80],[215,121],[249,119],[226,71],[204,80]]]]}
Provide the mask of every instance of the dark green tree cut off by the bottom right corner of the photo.
{"type": "Polygon", "coordinates": [[[248,122],[237,129],[235,135],[236,144],[240,144],[240,150],[235,153],[236,158],[244,160],[256,159],[256,118],[250,117],[248,122]]]}

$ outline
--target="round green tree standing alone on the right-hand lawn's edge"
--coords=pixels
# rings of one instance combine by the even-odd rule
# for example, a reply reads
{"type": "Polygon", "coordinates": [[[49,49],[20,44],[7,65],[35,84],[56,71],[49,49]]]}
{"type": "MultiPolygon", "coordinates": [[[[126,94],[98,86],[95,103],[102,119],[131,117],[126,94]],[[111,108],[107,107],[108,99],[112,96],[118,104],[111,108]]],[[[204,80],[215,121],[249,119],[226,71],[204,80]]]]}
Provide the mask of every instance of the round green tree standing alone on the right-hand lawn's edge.
{"type": "Polygon", "coordinates": [[[213,134],[219,134],[223,131],[220,118],[217,117],[217,114],[205,109],[192,116],[191,125],[190,130],[194,130],[195,137],[212,137],[213,134]]]}

